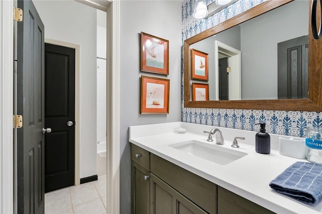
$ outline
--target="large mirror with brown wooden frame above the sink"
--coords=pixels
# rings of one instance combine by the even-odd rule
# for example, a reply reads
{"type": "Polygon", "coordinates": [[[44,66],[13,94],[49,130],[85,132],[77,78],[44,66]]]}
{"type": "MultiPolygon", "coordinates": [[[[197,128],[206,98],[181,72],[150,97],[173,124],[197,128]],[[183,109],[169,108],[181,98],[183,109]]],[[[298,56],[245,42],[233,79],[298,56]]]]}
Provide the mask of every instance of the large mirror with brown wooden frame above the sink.
{"type": "MultiPolygon", "coordinates": [[[[310,8],[311,1],[268,0],[184,41],[184,107],[321,111],[322,54],[320,50],[322,50],[322,43],[321,40],[315,40],[312,37],[310,8]],[[301,6],[296,6],[298,4],[301,6]],[[305,11],[300,13],[294,7],[305,8],[305,11]],[[282,14],[278,16],[277,13],[282,14]],[[303,17],[297,21],[287,18],[287,13],[293,14],[293,17],[294,14],[295,17],[301,14],[305,17],[305,21],[303,22],[303,17]],[[275,21],[269,21],[270,16],[275,17],[275,21]],[[276,23],[276,17],[278,23],[276,23]],[[285,20],[289,23],[283,24],[279,20],[281,17],[286,17],[285,20]],[[290,24],[292,21],[295,24],[290,24]],[[280,29],[269,29],[270,25],[280,26],[280,29]],[[294,33],[291,32],[291,28],[287,29],[291,25],[294,26],[294,33]],[[284,32],[282,32],[283,29],[284,32]],[[280,34],[284,36],[279,36],[280,34]],[[299,40],[303,45],[295,44],[292,48],[299,47],[302,54],[298,54],[296,49],[289,52],[290,56],[278,56],[281,55],[281,51],[278,50],[293,50],[287,46],[299,40]],[[202,47],[208,47],[208,49],[202,47]],[[274,48],[270,50],[271,47],[274,48]],[[207,64],[209,80],[206,82],[195,80],[191,76],[192,61],[196,60],[192,58],[192,49],[209,54],[207,64]],[[255,55],[251,55],[251,52],[255,55]],[[269,52],[275,55],[269,55],[269,52]],[[302,55],[303,58],[297,55],[302,55]],[[231,71],[227,73],[228,77],[225,79],[222,78],[223,75],[220,77],[218,60],[227,57],[229,59],[227,70],[226,67],[221,67],[224,67],[224,73],[231,71]],[[285,61],[284,58],[287,57],[291,62],[285,61]],[[294,58],[297,59],[295,64],[294,58]],[[287,78],[291,78],[280,71],[287,70],[288,73],[292,73],[294,69],[302,73],[295,74],[299,76],[294,78],[297,85],[291,86],[287,82],[287,78]],[[273,82],[269,82],[270,79],[273,79],[273,82]],[[192,101],[192,83],[209,84],[209,101],[192,101]]],[[[286,50],[284,52],[288,54],[286,50]]]]}

